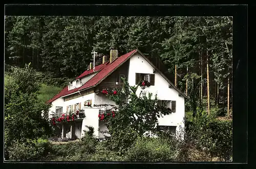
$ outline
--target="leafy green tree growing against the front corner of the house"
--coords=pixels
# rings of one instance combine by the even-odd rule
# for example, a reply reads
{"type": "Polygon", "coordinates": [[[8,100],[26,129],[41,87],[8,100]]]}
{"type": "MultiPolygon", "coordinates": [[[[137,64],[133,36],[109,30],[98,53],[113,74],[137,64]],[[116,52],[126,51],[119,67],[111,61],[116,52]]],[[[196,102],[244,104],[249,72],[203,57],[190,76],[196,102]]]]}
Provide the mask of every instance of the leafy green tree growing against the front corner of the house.
{"type": "Polygon", "coordinates": [[[144,87],[139,88],[139,85],[130,86],[124,80],[117,94],[109,94],[109,98],[116,104],[112,108],[117,112],[114,117],[106,118],[105,123],[114,149],[126,150],[138,136],[146,131],[157,130],[158,117],[171,113],[164,104],[157,105],[157,95],[153,98],[152,93],[146,92],[144,87]]]}

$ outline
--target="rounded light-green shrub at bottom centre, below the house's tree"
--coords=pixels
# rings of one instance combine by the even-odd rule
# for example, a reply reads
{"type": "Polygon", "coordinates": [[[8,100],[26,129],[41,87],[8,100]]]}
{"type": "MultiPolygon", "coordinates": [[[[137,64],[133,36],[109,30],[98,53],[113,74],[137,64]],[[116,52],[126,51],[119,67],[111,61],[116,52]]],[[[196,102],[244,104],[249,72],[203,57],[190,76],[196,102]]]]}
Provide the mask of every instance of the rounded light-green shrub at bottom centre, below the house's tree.
{"type": "Polygon", "coordinates": [[[127,161],[173,161],[177,151],[166,139],[141,137],[125,153],[127,161]]]}

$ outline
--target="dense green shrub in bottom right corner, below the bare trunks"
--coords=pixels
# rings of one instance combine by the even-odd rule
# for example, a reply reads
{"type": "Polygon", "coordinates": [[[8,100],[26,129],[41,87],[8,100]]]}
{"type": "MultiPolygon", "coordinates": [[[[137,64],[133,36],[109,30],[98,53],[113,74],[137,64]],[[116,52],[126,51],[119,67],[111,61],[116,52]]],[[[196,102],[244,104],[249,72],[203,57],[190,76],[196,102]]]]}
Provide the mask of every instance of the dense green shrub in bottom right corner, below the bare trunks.
{"type": "Polygon", "coordinates": [[[220,120],[203,114],[194,118],[189,126],[188,137],[197,148],[230,160],[232,155],[232,120],[220,120]]]}

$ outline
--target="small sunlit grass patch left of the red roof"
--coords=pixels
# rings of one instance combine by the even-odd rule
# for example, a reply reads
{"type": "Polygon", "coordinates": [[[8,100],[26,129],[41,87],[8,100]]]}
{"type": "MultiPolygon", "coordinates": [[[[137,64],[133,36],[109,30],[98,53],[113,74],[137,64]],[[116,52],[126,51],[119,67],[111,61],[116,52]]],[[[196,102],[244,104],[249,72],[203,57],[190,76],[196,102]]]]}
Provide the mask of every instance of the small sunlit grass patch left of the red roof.
{"type": "Polygon", "coordinates": [[[60,87],[42,84],[39,90],[38,99],[46,102],[49,99],[53,98],[53,96],[57,94],[61,89],[62,88],[60,87]]]}

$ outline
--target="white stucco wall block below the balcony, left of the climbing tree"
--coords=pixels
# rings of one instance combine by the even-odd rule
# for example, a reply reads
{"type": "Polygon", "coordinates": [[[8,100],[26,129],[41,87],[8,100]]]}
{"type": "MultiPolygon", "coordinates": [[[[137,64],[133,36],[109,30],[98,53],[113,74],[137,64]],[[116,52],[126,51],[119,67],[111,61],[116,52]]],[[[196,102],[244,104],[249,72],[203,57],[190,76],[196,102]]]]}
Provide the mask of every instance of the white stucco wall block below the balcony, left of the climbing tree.
{"type": "Polygon", "coordinates": [[[92,108],[84,108],[84,112],[86,114],[86,118],[82,120],[82,130],[81,137],[84,135],[84,131],[88,131],[89,129],[86,126],[92,126],[94,128],[94,135],[96,137],[99,136],[99,109],[96,107],[92,108]]]}

